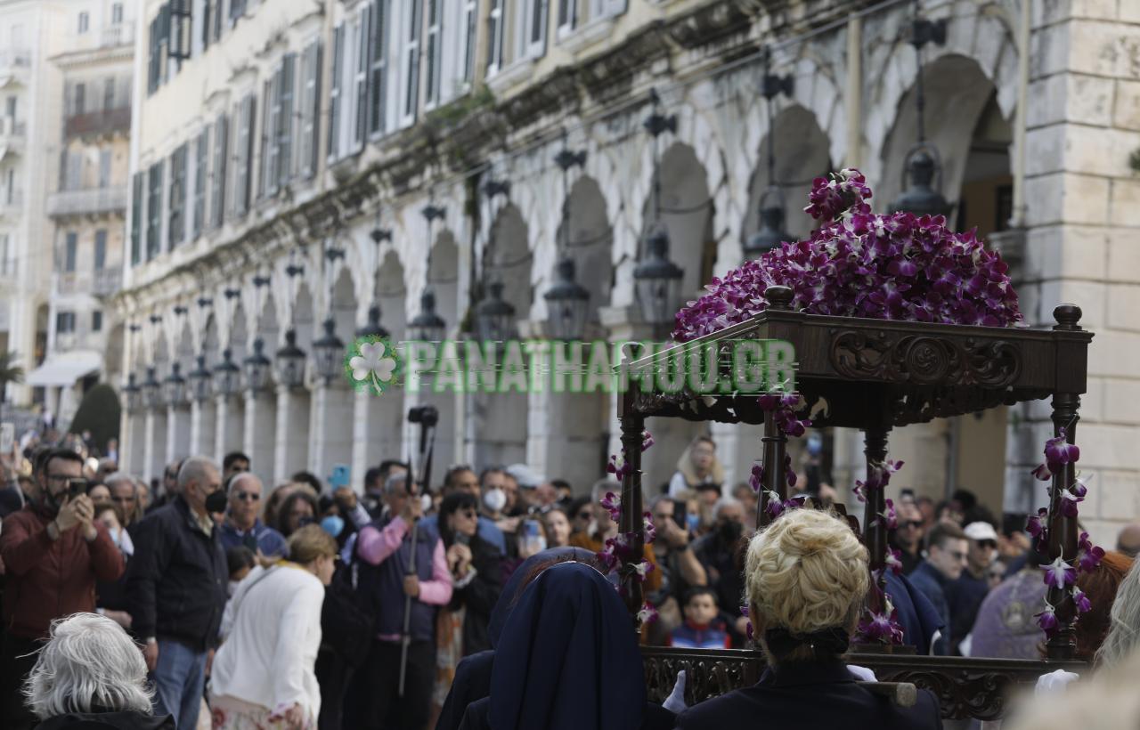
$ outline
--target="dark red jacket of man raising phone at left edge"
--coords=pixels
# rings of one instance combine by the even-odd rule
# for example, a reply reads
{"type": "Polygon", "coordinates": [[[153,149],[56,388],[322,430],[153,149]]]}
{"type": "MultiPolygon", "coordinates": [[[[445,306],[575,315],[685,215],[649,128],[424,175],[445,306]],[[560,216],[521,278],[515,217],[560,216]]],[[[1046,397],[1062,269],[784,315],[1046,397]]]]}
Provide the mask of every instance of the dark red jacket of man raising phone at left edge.
{"type": "Polygon", "coordinates": [[[5,565],[3,622],[14,634],[39,639],[48,635],[56,618],[95,610],[95,581],[116,581],[123,556],[103,525],[93,541],[82,526],[55,542],[47,519],[31,506],[3,519],[0,557],[5,565]]]}

